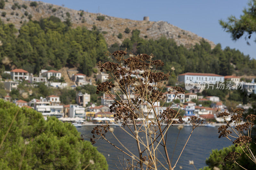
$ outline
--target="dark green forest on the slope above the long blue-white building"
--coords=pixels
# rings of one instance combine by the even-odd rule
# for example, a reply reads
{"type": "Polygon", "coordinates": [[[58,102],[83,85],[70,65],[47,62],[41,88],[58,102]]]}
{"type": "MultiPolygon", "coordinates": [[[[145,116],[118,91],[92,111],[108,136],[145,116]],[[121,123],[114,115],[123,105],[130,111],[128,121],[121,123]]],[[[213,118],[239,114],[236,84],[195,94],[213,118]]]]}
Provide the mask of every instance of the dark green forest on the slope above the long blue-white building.
{"type": "Polygon", "coordinates": [[[176,76],[184,72],[215,73],[223,76],[231,75],[238,70],[239,74],[256,73],[256,60],[251,60],[249,55],[244,55],[239,50],[229,47],[222,49],[220,44],[211,49],[211,45],[204,39],[187,49],[166,37],[144,40],[139,34],[139,30],[133,30],[131,38],[124,39],[120,48],[127,48],[127,51],[134,54],[153,53],[156,59],[164,62],[164,66],[161,67],[164,72],[171,71],[173,66],[173,74],[176,76]]]}

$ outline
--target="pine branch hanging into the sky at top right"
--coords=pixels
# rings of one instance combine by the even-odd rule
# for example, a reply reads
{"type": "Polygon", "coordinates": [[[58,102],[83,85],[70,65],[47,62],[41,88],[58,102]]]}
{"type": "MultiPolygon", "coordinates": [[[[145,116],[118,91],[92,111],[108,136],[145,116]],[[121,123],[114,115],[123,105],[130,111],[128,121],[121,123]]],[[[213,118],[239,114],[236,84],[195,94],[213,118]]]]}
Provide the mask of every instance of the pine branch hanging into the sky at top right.
{"type": "MultiPolygon", "coordinates": [[[[236,18],[231,15],[228,17],[228,21],[225,22],[220,20],[220,25],[226,30],[226,32],[231,33],[233,40],[237,40],[244,34],[245,38],[250,39],[252,34],[256,32],[256,0],[250,0],[248,7],[243,10],[243,15],[240,18],[236,18]]],[[[248,43],[248,42],[247,42],[248,43]]]]}

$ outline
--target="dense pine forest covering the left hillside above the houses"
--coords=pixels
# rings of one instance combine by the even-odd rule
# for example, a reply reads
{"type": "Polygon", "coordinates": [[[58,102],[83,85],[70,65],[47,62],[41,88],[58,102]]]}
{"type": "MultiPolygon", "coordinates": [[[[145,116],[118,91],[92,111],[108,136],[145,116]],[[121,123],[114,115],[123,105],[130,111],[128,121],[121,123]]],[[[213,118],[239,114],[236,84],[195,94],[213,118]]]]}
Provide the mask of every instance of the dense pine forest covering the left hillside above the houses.
{"type": "MultiPolygon", "coordinates": [[[[59,18],[50,17],[40,21],[29,21],[21,26],[18,37],[12,24],[0,21],[0,61],[8,57],[11,65],[38,73],[47,66],[60,69],[63,66],[76,66],[90,76],[92,68],[108,57],[107,43],[98,30],[89,31],[85,27],[71,28],[59,18]]],[[[0,63],[3,67],[3,64],[0,63]]]]}

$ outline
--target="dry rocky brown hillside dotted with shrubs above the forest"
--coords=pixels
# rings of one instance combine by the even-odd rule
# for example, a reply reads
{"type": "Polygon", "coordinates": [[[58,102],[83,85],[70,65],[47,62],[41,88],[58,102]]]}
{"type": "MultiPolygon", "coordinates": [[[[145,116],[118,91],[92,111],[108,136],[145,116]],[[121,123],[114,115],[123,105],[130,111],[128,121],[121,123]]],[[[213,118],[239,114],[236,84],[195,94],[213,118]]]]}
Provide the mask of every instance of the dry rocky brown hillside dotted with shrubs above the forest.
{"type": "MultiPolygon", "coordinates": [[[[4,9],[0,9],[1,19],[5,23],[13,23],[16,28],[20,28],[22,23],[27,22],[29,19],[39,20],[40,18],[47,18],[51,15],[65,21],[67,18],[73,23],[73,26],[86,26],[92,29],[95,25],[104,34],[108,45],[117,42],[121,44],[125,38],[131,36],[130,33],[124,33],[126,27],[130,30],[139,29],[140,35],[143,38],[157,39],[161,36],[173,38],[178,45],[182,44],[189,48],[198,43],[202,37],[195,33],[182,30],[177,26],[173,26],[164,21],[136,21],[130,19],[116,18],[107,16],[100,13],[89,13],[85,11],[76,11],[58,5],[48,4],[44,2],[22,1],[22,0],[8,0],[5,2],[4,9]],[[3,15],[3,13],[5,15],[3,15]],[[102,16],[104,19],[102,20],[102,16]],[[117,38],[117,35],[122,33],[122,38],[117,38]]],[[[208,41],[212,47],[214,43],[208,41]]]]}

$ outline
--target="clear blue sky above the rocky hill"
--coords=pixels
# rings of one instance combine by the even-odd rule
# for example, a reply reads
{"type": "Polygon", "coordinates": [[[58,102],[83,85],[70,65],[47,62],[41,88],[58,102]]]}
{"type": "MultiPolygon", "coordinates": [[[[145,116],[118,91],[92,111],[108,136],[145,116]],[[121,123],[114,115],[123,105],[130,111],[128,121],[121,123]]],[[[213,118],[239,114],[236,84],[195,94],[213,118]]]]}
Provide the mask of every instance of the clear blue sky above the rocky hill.
{"type": "Polygon", "coordinates": [[[247,7],[247,0],[41,0],[46,3],[64,5],[74,10],[142,20],[148,16],[150,21],[167,21],[181,29],[191,31],[222,48],[236,48],[245,55],[256,59],[256,36],[247,45],[244,37],[232,41],[230,33],[225,32],[219,20],[227,20],[230,15],[239,18],[247,7]]]}

